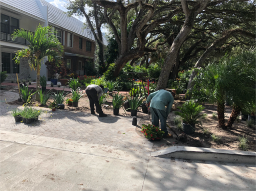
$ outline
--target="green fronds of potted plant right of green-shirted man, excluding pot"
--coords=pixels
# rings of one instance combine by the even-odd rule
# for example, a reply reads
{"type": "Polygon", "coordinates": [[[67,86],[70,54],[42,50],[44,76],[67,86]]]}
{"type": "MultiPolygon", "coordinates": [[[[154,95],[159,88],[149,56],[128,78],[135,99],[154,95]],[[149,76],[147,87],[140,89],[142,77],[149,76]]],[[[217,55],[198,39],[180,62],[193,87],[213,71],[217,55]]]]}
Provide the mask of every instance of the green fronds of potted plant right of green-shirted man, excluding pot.
{"type": "Polygon", "coordinates": [[[202,116],[201,112],[205,107],[195,102],[186,102],[181,107],[178,107],[181,111],[175,111],[176,115],[182,117],[184,124],[195,125],[200,124],[198,118],[202,116]]]}

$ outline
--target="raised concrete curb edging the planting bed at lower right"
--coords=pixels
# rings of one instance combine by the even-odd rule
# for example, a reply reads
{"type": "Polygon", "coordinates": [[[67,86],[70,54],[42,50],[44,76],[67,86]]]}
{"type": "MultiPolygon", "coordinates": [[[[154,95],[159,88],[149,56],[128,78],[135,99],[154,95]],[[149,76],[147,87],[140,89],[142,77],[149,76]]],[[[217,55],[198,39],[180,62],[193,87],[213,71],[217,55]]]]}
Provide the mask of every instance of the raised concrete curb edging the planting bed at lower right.
{"type": "Polygon", "coordinates": [[[151,153],[152,157],[209,160],[233,163],[256,163],[256,152],[174,146],[151,153]]]}

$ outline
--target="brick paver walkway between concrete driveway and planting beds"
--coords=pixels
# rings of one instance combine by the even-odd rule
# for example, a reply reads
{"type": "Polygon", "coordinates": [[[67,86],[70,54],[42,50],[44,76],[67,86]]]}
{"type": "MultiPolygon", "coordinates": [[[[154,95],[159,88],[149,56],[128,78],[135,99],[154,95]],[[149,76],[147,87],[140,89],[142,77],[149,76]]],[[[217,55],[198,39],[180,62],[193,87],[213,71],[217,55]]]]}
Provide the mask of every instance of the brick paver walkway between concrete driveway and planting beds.
{"type": "MultiPolygon", "coordinates": [[[[38,122],[32,124],[15,123],[10,114],[12,108],[22,108],[5,103],[17,100],[18,94],[0,90],[0,129],[19,133],[48,136],[90,144],[102,144],[139,151],[150,151],[152,142],[140,137],[132,126],[131,117],[97,117],[86,112],[56,110],[44,108],[38,122]]],[[[37,108],[38,109],[38,108],[37,108]]]]}

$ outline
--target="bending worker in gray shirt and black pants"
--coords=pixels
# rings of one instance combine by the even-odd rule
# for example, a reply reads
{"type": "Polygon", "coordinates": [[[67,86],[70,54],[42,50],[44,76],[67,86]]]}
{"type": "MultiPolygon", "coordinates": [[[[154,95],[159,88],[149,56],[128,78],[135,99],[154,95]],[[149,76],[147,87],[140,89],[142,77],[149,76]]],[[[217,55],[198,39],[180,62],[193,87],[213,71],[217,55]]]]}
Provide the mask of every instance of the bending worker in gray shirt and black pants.
{"type": "Polygon", "coordinates": [[[101,106],[99,105],[99,99],[103,94],[103,89],[104,89],[103,85],[98,86],[95,84],[91,84],[91,85],[87,86],[87,88],[86,88],[86,94],[90,101],[91,113],[95,114],[95,112],[94,112],[94,104],[95,104],[96,112],[99,113],[100,117],[107,116],[105,113],[103,113],[101,106]]]}

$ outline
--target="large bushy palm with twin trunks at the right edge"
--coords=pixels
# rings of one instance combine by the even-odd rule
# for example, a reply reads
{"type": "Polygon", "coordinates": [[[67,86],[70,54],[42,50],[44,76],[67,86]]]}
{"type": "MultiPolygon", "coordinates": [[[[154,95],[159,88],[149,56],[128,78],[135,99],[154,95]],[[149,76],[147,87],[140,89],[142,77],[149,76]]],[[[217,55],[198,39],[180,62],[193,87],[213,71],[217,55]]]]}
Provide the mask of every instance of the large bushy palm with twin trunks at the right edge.
{"type": "Polygon", "coordinates": [[[193,92],[193,99],[217,102],[219,127],[230,128],[241,110],[256,99],[256,50],[241,51],[236,56],[226,55],[219,63],[197,70],[195,88],[199,89],[194,89],[197,96],[193,92]],[[227,124],[225,101],[233,104],[227,124]]]}

